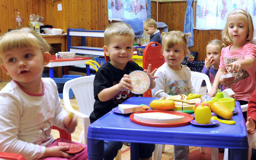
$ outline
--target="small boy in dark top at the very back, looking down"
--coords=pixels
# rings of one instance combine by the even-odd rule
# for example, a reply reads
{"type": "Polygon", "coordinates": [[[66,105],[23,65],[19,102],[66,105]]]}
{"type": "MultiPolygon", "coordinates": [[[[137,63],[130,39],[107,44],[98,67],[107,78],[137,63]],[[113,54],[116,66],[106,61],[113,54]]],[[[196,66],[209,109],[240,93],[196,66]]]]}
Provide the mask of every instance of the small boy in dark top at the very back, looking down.
{"type": "Polygon", "coordinates": [[[158,42],[162,45],[161,33],[157,28],[156,21],[152,18],[143,23],[143,29],[150,35],[150,42],[158,42]]]}

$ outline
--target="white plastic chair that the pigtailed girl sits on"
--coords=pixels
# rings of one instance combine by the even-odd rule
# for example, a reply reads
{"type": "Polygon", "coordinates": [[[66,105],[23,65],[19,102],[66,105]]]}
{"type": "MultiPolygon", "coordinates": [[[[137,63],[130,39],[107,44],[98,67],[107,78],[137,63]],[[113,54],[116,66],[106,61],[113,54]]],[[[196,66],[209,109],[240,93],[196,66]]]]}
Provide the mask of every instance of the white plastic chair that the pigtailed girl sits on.
{"type": "MultiPolygon", "coordinates": [[[[206,74],[191,71],[191,82],[194,89],[199,93],[203,80],[206,82],[207,90],[210,91],[212,89],[212,85],[210,83],[210,79],[206,74]]],[[[156,144],[156,149],[154,151],[154,160],[161,160],[162,152],[164,152],[165,145],[156,144]]],[[[212,160],[218,160],[219,149],[218,148],[210,148],[212,160]]],[[[204,147],[200,148],[201,153],[205,153],[204,147]]]]}

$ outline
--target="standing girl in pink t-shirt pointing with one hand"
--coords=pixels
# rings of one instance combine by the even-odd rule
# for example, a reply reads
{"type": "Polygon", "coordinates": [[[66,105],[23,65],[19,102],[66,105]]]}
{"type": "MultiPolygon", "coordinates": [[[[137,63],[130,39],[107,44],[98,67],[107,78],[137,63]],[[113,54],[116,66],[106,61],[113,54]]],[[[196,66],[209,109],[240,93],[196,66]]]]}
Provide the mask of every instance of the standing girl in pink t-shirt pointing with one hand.
{"type": "Polygon", "coordinates": [[[219,69],[212,90],[207,95],[214,97],[219,85],[222,84],[231,87],[240,105],[249,102],[256,85],[256,46],[250,43],[253,33],[252,18],[247,11],[235,9],[229,13],[222,38],[233,44],[222,49],[219,69]],[[233,71],[239,74],[238,77],[220,79],[221,75],[233,71]]]}

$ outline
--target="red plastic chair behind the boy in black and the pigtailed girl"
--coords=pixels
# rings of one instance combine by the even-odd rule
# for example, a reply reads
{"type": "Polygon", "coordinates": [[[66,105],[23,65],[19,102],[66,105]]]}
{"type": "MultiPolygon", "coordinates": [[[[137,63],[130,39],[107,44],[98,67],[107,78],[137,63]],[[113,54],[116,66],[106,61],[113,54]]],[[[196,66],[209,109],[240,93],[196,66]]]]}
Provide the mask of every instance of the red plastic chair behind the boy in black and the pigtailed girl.
{"type": "MultiPolygon", "coordinates": [[[[164,64],[164,56],[162,54],[162,45],[158,42],[150,42],[146,45],[143,52],[143,68],[147,69],[148,65],[151,64],[151,70],[159,68],[164,64]],[[152,44],[156,46],[151,46],[152,44]]],[[[152,97],[151,90],[144,92],[143,97],[152,97]]]]}

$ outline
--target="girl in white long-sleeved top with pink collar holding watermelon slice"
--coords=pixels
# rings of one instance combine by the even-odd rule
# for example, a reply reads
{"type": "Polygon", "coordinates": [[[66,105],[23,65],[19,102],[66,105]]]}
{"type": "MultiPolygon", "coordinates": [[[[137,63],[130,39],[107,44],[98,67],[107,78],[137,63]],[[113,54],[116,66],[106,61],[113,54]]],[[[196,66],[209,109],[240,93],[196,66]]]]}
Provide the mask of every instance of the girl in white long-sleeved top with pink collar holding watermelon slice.
{"type": "Polygon", "coordinates": [[[68,147],[58,142],[75,142],[50,135],[53,125],[73,133],[77,122],[63,109],[54,80],[41,78],[50,61],[49,50],[49,44],[30,28],[0,38],[1,68],[12,78],[0,91],[0,151],[26,159],[87,159],[87,147],[69,155],[64,152],[68,147]]]}

